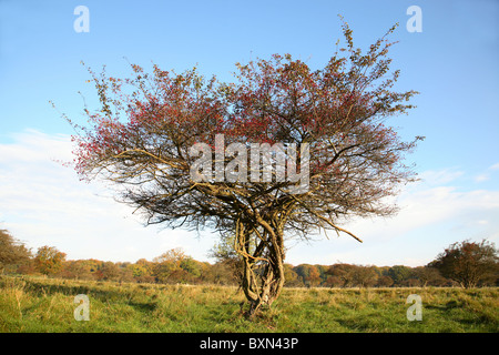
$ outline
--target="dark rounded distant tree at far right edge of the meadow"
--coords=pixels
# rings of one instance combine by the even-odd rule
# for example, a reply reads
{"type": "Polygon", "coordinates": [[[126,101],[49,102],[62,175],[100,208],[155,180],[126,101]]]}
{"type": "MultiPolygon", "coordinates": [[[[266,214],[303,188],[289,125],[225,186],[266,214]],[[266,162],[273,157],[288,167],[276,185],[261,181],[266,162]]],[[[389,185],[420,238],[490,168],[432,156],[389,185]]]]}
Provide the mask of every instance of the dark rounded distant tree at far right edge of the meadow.
{"type": "Polygon", "coordinates": [[[498,250],[492,242],[456,242],[438,254],[429,266],[462,287],[495,284],[499,276],[498,250]]]}

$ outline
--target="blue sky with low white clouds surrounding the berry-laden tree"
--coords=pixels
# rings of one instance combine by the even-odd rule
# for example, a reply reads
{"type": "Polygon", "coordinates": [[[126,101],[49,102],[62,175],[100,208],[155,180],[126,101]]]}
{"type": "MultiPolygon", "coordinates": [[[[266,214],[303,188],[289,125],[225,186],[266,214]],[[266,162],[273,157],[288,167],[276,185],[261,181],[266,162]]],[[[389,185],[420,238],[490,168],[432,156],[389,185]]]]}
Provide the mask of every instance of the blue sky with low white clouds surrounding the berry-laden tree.
{"type": "Polygon", "coordinates": [[[130,73],[128,61],[179,72],[197,64],[225,81],[236,62],[272,53],[318,69],[342,38],[338,13],[364,49],[399,22],[397,89],[420,94],[391,122],[406,139],[427,138],[408,155],[424,180],[403,191],[397,216],[347,225],[363,244],[346,235],[292,242],[287,261],[422,265],[456,241],[497,243],[499,2],[486,0],[0,1],[0,227],[69,258],[134,262],[181,246],[207,260],[214,235],[144,229],[109,190],[54,162],[71,159],[72,131],[49,100],[84,122],[82,95],[92,106],[96,93],[80,61],[116,77],[130,73]],[[422,32],[406,29],[414,4],[422,32]],[[88,33],[73,29],[78,6],[89,9],[88,33]]]}

